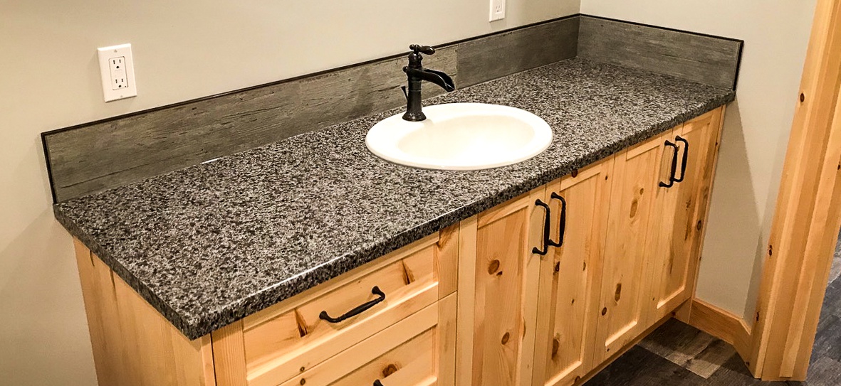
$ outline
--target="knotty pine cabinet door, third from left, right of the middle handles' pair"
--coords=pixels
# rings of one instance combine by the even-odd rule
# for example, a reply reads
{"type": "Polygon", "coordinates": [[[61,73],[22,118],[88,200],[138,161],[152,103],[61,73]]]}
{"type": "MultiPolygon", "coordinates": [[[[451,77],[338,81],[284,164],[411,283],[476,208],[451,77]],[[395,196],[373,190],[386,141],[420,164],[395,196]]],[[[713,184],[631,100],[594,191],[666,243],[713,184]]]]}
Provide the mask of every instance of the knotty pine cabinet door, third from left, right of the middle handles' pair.
{"type": "MultiPolygon", "coordinates": [[[[645,236],[662,172],[664,141],[671,132],[616,156],[611,185],[604,268],[596,330],[595,363],[601,363],[645,330],[648,290],[645,236]]],[[[670,157],[671,155],[669,155],[670,157]]]]}

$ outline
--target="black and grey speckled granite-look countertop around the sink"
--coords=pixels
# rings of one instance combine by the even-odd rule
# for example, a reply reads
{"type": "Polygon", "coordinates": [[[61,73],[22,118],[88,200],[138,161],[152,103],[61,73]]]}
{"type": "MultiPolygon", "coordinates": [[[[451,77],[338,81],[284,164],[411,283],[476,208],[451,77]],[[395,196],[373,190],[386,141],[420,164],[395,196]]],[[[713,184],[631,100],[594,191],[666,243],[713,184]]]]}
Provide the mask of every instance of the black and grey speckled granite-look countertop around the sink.
{"type": "Polygon", "coordinates": [[[368,152],[362,117],[56,204],[56,218],[190,339],[697,117],[734,92],[584,59],[425,101],[520,107],[553,143],[492,170],[368,152]]]}

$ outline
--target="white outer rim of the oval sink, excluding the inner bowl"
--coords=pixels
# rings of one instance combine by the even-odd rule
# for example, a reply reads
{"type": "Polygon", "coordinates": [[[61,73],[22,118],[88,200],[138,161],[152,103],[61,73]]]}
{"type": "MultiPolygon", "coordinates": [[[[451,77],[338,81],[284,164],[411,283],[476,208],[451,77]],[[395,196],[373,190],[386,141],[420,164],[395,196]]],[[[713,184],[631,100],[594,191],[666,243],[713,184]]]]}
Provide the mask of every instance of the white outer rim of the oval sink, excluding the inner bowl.
{"type": "Polygon", "coordinates": [[[424,107],[426,121],[405,121],[399,112],[374,124],[365,136],[368,151],[394,164],[429,170],[485,170],[532,159],[549,148],[553,142],[553,131],[541,117],[521,108],[489,103],[444,103],[424,107]],[[516,151],[494,162],[465,162],[465,159],[436,159],[406,153],[399,147],[401,139],[421,129],[429,128],[436,121],[447,121],[471,115],[505,116],[514,118],[532,129],[532,138],[516,151]]]}

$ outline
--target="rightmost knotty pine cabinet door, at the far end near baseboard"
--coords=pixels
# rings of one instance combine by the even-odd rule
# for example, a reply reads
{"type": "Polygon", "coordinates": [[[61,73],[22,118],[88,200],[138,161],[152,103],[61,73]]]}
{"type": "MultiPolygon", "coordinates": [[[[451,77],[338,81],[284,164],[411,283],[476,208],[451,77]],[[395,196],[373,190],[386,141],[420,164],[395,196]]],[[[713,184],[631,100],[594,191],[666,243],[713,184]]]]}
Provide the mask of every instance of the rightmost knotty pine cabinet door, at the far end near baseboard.
{"type": "Polygon", "coordinates": [[[708,164],[715,155],[720,111],[709,112],[674,131],[678,170],[672,187],[657,188],[657,203],[648,232],[651,267],[648,325],[690,299],[700,252],[701,216],[707,192],[701,192],[708,164]],[[683,166],[685,159],[685,168],[683,166]]]}

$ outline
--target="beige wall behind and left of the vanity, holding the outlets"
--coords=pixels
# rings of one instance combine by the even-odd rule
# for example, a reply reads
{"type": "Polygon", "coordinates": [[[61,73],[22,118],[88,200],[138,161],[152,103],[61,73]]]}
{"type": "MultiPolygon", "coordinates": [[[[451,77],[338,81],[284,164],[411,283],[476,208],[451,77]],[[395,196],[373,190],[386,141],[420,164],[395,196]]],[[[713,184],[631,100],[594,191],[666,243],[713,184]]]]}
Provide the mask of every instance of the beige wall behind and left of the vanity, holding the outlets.
{"type": "Polygon", "coordinates": [[[574,14],[579,0],[508,0],[507,18],[493,24],[488,8],[488,0],[0,0],[0,384],[96,382],[39,133],[574,14]],[[96,48],[122,43],[133,46],[139,95],[105,104],[96,48]]]}

